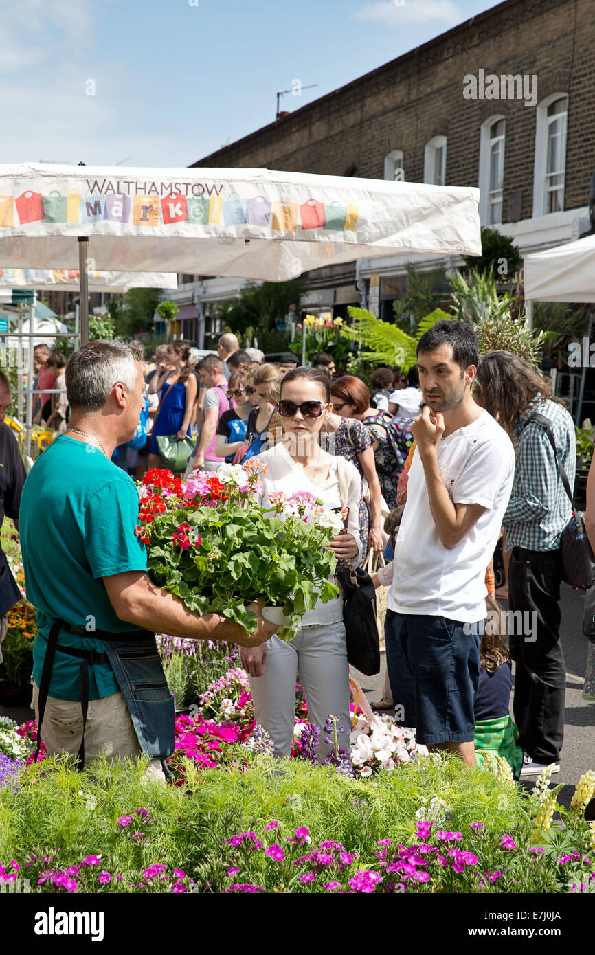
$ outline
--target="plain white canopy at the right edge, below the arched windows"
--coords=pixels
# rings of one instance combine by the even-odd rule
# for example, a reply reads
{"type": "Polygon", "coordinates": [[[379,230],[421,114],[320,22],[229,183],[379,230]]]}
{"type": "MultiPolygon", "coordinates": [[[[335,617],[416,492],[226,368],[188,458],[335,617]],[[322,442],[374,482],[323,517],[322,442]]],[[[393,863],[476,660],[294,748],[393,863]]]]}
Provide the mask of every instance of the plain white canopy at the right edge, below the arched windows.
{"type": "Polygon", "coordinates": [[[534,302],[595,302],[595,235],[524,258],[524,297],[534,302]]]}

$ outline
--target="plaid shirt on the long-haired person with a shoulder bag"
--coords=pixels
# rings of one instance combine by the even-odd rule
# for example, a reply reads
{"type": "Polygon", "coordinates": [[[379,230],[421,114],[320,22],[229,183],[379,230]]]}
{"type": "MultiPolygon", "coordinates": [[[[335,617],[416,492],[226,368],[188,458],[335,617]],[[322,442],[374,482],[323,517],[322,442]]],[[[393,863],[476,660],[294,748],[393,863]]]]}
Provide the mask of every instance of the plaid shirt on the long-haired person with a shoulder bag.
{"type": "Polygon", "coordinates": [[[558,455],[574,488],[576,438],[574,423],[563,405],[537,395],[516,422],[519,438],[515,479],[502,524],[506,531],[506,552],[512,547],[527,550],[555,550],[570,520],[572,507],[563,488],[554,450],[538,424],[525,425],[534,412],[552,422],[558,455]]]}

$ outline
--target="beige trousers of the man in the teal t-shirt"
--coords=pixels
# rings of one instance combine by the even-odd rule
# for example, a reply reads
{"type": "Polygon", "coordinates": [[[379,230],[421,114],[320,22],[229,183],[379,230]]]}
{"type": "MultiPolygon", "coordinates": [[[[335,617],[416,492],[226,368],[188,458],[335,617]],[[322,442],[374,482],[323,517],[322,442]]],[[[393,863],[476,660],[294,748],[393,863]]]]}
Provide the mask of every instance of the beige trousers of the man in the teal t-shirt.
{"type": "MultiPolygon", "coordinates": [[[[33,681],[32,710],[39,723],[39,688],[33,681]]],[[[83,714],[79,700],[57,700],[48,696],[41,727],[41,738],[48,755],[71,753],[80,748],[83,730],[83,714]]],[[[130,718],[126,701],[121,693],[113,693],[102,700],[89,700],[85,728],[85,766],[96,756],[117,759],[121,756],[137,758],[142,751],[130,718]]],[[[152,759],[147,775],[164,779],[159,759],[152,759]]]]}

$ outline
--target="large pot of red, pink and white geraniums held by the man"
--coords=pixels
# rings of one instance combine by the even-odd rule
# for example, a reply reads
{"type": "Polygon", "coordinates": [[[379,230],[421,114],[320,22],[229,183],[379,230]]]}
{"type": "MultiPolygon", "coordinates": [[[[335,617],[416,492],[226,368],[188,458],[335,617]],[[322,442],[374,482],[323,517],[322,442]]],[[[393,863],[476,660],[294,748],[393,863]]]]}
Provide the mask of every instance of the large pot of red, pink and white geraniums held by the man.
{"type": "Polygon", "coordinates": [[[319,597],[326,603],[339,592],[329,582],[336,564],[329,541],[343,518],[304,493],[273,495],[270,507],[260,506],[266,468],[252,457],[187,480],[148,471],[137,534],[151,580],[188,609],[221,614],[252,632],[257,619],[247,607],[259,601],[290,640],[319,597]]]}

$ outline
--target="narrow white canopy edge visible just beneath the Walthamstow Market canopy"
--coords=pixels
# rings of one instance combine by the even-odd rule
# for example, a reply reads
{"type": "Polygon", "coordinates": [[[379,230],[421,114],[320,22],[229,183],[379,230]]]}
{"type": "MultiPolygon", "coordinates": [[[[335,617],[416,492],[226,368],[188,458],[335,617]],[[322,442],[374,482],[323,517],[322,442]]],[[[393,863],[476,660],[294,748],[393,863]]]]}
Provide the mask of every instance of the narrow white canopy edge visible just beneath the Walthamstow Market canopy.
{"type": "MultiPolygon", "coordinates": [[[[78,291],[78,269],[0,268],[0,288],[54,288],[78,291]]],[[[177,288],[175,272],[87,272],[90,292],[126,292],[129,288],[177,288]]]]}

